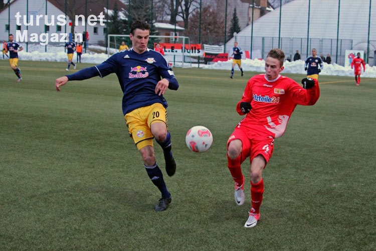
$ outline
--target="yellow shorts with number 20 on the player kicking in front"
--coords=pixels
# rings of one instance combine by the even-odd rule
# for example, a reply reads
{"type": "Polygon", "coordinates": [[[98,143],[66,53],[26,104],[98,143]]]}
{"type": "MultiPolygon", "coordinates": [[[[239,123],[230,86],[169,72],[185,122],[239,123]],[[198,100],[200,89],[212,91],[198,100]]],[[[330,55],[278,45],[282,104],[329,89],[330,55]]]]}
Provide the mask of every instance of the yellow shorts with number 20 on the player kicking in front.
{"type": "Polygon", "coordinates": [[[146,146],[153,146],[154,136],[150,131],[150,125],[153,122],[164,122],[167,126],[167,110],[160,103],[132,110],[125,114],[124,118],[129,136],[138,150],[146,146]]]}

